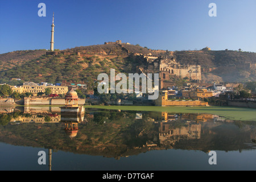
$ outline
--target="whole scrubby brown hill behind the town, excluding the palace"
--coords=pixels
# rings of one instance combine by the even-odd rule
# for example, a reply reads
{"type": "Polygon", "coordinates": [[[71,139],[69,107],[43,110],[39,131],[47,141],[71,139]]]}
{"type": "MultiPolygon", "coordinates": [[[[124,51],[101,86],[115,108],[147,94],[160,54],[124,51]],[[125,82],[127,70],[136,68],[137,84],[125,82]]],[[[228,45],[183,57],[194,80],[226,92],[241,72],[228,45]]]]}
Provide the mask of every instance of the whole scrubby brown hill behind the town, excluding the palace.
{"type": "Polygon", "coordinates": [[[14,51],[0,55],[0,82],[20,78],[34,82],[93,81],[100,73],[135,73],[139,64],[134,53],[175,57],[181,64],[201,65],[205,82],[255,81],[256,53],[243,51],[168,51],[152,50],[129,43],[81,46],[56,55],[47,50],[14,51]]]}

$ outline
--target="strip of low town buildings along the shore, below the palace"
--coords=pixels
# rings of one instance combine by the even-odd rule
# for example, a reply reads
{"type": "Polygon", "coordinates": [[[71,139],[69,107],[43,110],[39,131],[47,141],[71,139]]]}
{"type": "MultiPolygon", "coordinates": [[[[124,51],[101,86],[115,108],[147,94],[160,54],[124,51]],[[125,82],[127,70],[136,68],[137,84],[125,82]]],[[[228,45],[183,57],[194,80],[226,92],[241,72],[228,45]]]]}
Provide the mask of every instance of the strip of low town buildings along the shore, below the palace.
{"type": "MultiPolygon", "coordinates": [[[[162,74],[160,76],[163,77],[162,74]]],[[[14,78],[14,80],[17,79],[14,78]]],[[[97,83],[99,84],[100,82],[97,83]]],[[[161,81],[161,83],[163,82],[161,81]]],[[[24,81],[22,85],[8,85],[3,83],[0,85],[0,104],[64,104],[64,97],[68,90],[75,90],[80,98],[79,104],[81,105],[216,105],[255,108],[255,82],[247,82],[246,84],[214,82],[213,84],[209,84],[184,81],[182,85],[170,84],[170,86],[163,86],[163,84],[160,84],[160,87],[159,97],[156,100],[148,100],[150,93],[142,93],[142,91],[129,93],[128,90],[125,94],[98,93],[97,88],[88,89],[85,83],[67,81],[55,84],[28,81],[24,81]],[[63,102],[60,102],[61,99],[63,102]],[[27,100],[31,101],[27,102],[27,100]],[[32,100],[35,102],[32,102],[32,100]]]]}

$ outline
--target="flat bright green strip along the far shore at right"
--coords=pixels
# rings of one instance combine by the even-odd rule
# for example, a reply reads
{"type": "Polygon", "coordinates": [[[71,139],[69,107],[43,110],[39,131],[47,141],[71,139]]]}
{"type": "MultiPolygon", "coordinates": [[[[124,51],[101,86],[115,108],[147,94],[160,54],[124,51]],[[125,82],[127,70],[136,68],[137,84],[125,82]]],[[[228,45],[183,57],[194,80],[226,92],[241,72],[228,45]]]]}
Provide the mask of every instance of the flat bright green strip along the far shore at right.
{"type": "Polygon", "coordinates": [[[215,107],[215,106],[85,106],[85,108],[97,109],[112,109],[112,110],[136,110],[136,111],[158,111],[168,113],[207,113],[216,114],[226,119],[240,120],[240,121],[256,121],[256,109],[244,107],[215,107]]]}

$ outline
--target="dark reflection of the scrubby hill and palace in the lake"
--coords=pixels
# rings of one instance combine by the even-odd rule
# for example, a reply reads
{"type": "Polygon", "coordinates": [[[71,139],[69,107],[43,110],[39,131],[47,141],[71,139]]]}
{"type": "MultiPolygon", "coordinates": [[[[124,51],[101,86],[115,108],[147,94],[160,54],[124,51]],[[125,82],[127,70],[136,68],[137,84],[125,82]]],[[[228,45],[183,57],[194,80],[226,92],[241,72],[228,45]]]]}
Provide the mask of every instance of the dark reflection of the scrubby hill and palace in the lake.
{"type": "MultiPolygon", "coordinates": [[[[161,115],[161,113],[158,113],[161,115]]],[[[188,119],[156,122],[143,113],[96,110],[79,122],[76,137],[65,133],[65,123],[9,122],[0,126],[0,141],[20,146],[45,147],[77,154],[119,158],[148,150],[243,150],[255,134],[255,124],[245,122],[197,122],[188,119]]]]}

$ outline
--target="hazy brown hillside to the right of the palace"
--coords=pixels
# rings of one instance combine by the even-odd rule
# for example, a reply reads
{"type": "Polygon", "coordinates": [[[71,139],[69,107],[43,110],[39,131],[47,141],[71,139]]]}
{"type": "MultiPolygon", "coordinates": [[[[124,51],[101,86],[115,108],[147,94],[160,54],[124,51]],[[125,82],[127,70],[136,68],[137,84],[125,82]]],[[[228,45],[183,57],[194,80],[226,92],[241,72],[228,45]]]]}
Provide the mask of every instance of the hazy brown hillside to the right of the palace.
{"type": "Polygon", "coordinates": [[[206,81],[255,81],[256,53],[242,51],[175,51],[180,63],[199,64],[206,81]]]}

